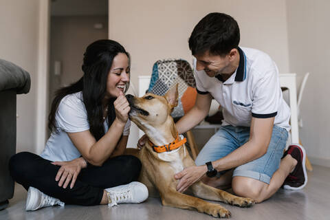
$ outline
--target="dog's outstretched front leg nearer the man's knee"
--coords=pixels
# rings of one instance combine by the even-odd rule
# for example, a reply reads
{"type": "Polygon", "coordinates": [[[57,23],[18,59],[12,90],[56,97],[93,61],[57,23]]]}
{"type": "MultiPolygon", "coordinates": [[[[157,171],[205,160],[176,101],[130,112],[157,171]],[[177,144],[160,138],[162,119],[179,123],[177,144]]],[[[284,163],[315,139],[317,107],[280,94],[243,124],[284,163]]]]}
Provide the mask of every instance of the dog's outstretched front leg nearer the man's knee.
{"type": "Polygon", "coordinates": [[[203,184],[202,181],[197,181],[195,184],[190,186],[192,193],[202,199],[208,199],[213,201],[223,201],[234,206],[250,207],[255,201],[250,198],[236,197],[229,192],[219,190],[212,186],[203,184]]]}

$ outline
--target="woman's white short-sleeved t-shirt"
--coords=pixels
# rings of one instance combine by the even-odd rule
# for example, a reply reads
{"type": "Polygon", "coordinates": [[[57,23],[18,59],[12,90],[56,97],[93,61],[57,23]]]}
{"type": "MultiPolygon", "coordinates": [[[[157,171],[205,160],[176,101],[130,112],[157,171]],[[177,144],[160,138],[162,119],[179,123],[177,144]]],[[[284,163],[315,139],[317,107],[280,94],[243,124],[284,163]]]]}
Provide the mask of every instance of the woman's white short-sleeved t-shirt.
{"type": "MultiPolygon", "coordinates": [[[[70,161],[80,157],[80,152],[70,140],[67,132],[76,133],[89,130],[87,111],[83,102],[83,93],[77,92],[65,96],[55,115],[58,132],[52,132],[47,140],[41,157],[54,161],[70,161]]],[[[129,135],[131,121],[128,120],[122,135],[129,135]]],[[[104,120],[104,131],[109,129],[107,120],[104,120]]]]}

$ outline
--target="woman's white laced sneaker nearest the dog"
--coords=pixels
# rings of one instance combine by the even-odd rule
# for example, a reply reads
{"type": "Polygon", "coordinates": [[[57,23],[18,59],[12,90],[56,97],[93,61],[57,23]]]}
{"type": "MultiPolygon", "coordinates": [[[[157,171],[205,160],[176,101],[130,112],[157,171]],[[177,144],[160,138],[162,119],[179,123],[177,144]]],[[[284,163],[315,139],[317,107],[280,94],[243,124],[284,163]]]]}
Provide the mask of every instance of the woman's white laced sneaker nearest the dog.
{"type": "Polygon", "coordinates": [[[148,188],[138,181],[105,189],[108,193],[108,206],[119,203],[140,203],[148,198],[148,188]]]}

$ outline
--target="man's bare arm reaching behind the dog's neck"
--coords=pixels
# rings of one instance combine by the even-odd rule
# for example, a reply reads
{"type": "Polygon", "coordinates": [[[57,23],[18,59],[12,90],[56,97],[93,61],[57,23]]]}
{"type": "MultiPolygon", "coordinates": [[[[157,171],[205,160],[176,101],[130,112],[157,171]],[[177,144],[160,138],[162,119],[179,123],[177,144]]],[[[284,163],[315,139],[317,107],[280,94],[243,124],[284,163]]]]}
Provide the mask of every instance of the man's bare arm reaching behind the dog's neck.
{"type": "Polygon", "coordinates": [[[210,111],[212,96],[197,94],[194,107],[188,111],[175,125],[178,133],[185,133],[199,124],[210,111]]]}

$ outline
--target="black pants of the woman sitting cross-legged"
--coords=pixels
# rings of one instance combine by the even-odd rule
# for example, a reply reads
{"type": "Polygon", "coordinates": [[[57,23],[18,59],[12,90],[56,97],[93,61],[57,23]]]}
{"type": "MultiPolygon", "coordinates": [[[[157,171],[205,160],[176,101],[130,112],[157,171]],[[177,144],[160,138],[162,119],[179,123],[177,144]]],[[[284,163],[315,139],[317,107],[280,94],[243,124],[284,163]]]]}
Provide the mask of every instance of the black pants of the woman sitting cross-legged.
{"type": "Polygon", "coordinates": [[[120,155],[107,159],[102,166],[83,168],[70,189],[58,186],[55,181],[60,166],[51,164],[39,155],[21,152],[10,158],[9,169],[12,178],[26,190],[30,186],[65,203],[82,206],[100,204],[105,188],[128,184],[140,175],[141,162],[131,155],[120,155]]]}

